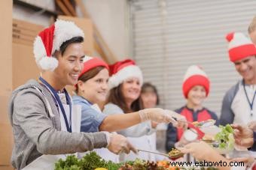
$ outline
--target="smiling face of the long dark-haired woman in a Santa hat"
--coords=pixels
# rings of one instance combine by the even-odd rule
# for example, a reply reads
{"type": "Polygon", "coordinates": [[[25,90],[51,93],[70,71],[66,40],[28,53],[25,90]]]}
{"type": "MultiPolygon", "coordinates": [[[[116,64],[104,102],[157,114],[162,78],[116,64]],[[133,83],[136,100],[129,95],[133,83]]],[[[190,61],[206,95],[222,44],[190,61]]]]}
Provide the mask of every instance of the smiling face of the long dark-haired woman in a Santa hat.
{"type": "Polygon", "coordinates": [[[139,79],[136,77],[126,79],[121,85],[121,91],[125,103],[131,104],[134,100],[138,99],[141,92],[141,85],[139,79]]]}

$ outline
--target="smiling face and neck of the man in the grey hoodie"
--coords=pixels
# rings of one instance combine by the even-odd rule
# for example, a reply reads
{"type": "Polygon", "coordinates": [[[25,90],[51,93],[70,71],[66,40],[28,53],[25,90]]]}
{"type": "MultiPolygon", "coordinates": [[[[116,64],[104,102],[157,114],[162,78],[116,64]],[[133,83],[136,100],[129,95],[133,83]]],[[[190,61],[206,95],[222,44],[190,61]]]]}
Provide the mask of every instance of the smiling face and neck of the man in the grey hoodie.
{"type": "Polygon", "coordinates": [[[84,47],[82,43],[72,43],[61,55],[56,52],[56,58],[59,61],[58,67],[53,71],[54,79],[58,79],[60,85],[75,85],[78,82],[78,76],[83,70],[84,47]]]}

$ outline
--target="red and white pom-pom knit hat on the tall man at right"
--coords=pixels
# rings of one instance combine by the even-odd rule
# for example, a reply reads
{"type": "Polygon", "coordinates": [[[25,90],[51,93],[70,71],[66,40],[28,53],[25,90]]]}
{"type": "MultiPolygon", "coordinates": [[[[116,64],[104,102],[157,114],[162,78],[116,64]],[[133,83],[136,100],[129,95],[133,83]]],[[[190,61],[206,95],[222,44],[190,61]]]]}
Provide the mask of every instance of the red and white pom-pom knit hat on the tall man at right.
{"type": "Polygon", "coordinates": [[[251,55],[256,55],[254,43],[240,32],[232,32],[226,36],[230,61],[234,62],[251,55]]]}

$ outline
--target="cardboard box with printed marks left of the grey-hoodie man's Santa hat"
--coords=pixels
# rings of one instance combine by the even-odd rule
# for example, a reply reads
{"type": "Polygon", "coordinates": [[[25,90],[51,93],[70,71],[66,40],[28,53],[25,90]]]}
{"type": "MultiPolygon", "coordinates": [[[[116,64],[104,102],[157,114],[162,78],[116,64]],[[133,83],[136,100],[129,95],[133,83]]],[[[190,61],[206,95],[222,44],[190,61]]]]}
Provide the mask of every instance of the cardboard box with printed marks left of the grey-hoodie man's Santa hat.
{"type": "Polygon", "coordinates": [[[12,43],[12,88],[24,84],[29,79],[38,79],[40,71],[35,64],[33,42],[44,27],[13,19],[12,43]]]}

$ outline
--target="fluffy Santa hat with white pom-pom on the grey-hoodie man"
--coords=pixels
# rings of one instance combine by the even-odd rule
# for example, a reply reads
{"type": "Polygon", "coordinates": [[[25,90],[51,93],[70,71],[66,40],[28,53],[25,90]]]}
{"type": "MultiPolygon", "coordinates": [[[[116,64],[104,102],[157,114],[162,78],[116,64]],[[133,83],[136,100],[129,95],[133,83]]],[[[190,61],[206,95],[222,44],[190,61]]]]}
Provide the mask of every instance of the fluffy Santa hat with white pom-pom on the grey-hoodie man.
{"type": "Polygon", "coordinates": [[[58,60],[53,57],[53,53],[59,50],[62,43],[73,37],[84,37],[84,32],[74,22],[61,19],[41,31],[34,42],[35,62],[38,67],[53,71],[58,66],[58,60]]]}

